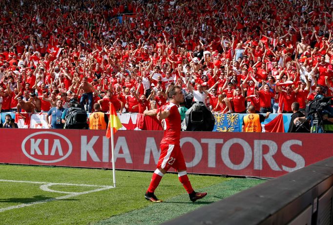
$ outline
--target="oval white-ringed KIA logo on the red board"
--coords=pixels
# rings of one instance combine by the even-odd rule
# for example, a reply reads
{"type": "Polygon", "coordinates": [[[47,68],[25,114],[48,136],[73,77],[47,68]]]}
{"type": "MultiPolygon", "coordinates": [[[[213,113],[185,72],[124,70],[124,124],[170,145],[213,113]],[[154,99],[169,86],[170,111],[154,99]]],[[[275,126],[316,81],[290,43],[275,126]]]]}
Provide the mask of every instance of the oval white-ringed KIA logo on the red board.
{"type": "Polygon", "coordinates": [[[56,163],[72,153],[72,143],[60,133],[42,131],[27,136],[21,145],[26,157],[40,163],[56,163]]]}

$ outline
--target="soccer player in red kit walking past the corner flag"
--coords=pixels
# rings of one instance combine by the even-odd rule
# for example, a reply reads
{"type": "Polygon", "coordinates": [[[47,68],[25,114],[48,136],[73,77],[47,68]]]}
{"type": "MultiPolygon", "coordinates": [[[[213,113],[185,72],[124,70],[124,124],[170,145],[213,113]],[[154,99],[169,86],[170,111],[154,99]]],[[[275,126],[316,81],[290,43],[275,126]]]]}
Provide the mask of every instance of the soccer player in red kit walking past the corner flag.
{"type": "Polygon", "coordinates": [[[172,167],[178,171],[179,181],[185,187],[189,199],[195,202],[205,197],[207,193],[195,192],[193,190],[187,177],[187,168],[180,148],[181,117],[178,112],[178,105],[184,102],[184,94],[180,87],[173,86],[168,92],[168,97],[170,101],[161,108],[146,110],[144,112],[145,115],[157,116],[159,120],[162,120],[162,125],[165,130],[164,137],[161,141],[161,155],[157,163],[157,169],[153,173],[145,198],[154,203],[162,202],[155,196],[154,191],[160,184],[163,175],[172,167]]]}

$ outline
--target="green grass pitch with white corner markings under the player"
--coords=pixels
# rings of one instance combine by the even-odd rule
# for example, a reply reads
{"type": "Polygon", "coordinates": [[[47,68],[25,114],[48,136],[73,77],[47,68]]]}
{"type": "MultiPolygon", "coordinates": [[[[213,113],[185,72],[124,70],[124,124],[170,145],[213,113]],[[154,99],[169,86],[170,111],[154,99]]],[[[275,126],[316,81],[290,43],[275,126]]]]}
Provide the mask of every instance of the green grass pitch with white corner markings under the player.
{"type": "Polygon", "coordinates": [[[112,188],[112,170],[0,165],[0,224],[155,225],[264,182],[189,174],[195,190],[208,192],[192,203],[167,173],[155,191],[164,202],[153,204],[144,198],[151,175],[117,170],[112,188]]]}

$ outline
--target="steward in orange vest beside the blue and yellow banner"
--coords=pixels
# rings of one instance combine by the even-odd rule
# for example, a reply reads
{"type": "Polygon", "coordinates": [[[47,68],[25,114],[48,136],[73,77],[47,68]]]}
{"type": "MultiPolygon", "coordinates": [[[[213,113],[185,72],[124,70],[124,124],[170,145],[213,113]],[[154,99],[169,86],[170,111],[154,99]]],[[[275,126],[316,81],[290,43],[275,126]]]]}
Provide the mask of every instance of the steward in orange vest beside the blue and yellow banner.
{"type": "Polygon", "coordinates": [[[256,114],[254,106],[250,105],[248,111],[250,114],[243,117],[243,132],[261,132],[261,123],[265,121],[271,112],[267,112],[266,116],[262,114],[256,114]]]}

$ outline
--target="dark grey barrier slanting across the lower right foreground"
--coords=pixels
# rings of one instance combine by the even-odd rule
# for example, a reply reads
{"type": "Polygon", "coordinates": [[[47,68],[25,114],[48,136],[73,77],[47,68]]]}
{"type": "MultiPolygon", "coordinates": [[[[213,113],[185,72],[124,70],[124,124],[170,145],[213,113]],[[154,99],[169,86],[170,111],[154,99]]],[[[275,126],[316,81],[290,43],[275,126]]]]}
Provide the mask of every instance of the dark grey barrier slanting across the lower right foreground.
{"type": "Polygon", "coordinates": [[[333,157],[163,225],[332,225],[332,199],[333,157]]]}

